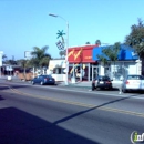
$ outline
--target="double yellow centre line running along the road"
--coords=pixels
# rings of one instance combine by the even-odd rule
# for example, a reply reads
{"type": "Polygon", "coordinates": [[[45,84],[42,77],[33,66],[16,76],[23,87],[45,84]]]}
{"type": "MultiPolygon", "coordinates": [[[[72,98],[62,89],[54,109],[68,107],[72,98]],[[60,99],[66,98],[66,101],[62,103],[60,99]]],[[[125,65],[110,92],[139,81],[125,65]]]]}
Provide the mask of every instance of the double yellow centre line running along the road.
{"type": "Polygon", "coordinates": [[[76,106],[84,106],[84,107],[95,109],[95,110],[99,109],[99,110],[109,111],[109,112],[115,112],[115,113],[122,113],[122,114],[144,117],[144,113],[137,113],[137,112],[132,112],[132,111],[125,111],[125,110],[112,109],[112,107],[107,107],[107,106],[101,106],[101,104],[100,105],[94,105],[94,104],[86,104],[86,103],[81,103],[81,102],[48,97],[48,96],[42,96],[42,95],[32,95],[32,94],[29,94],[29,93],[20,92],[20,91],[16,90],[16,89],[11,89],[11,90],[13,92],[18,93],[18,94],[22,94],[24,96],[30,96],[30,97],[34,97],[34,99],[48,100],[48,101],[65,103],[65,104],[71,104],[71,105],[76,105],[76,106]]]}

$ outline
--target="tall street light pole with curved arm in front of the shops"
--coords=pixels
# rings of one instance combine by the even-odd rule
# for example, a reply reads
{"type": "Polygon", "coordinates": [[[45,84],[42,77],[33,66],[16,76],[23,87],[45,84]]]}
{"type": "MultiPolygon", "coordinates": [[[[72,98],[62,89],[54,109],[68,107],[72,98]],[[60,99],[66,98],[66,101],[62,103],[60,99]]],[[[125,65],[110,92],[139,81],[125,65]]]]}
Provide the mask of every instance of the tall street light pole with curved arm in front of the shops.
{"type": "Polygon", "coordinates": [[[69,49],[69,22],[61,16],[58,14],[53,14],[53,13],[49,13],[49,16],[51,17],[55,17],[55,18],[61,18],[62,20],[64,20],[66,22],[66,55],[65,55],[65,69],[66,69],[66,74],[65,74],[65,85],[68,85],[68,73],[69,73],[69,61],[68,61],[68,49],[69,49]]]}

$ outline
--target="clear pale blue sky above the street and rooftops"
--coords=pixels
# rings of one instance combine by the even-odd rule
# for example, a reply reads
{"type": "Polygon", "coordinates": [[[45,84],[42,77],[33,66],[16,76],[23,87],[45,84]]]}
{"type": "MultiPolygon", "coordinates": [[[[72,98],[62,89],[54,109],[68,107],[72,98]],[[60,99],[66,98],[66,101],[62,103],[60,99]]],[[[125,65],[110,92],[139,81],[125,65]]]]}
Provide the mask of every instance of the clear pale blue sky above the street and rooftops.
{"type": "MultiPolygon", "coordinates": [[[[137,18],[144,20],[144,0],[0,0],[0,51],[8,59],[23,59],[24,51],[49,45],[60,58],[58,30],[66,32],[69,47],[124,42],[137,18]]],[[[66,37],[65,37],[66,39],[66,37]]]]}

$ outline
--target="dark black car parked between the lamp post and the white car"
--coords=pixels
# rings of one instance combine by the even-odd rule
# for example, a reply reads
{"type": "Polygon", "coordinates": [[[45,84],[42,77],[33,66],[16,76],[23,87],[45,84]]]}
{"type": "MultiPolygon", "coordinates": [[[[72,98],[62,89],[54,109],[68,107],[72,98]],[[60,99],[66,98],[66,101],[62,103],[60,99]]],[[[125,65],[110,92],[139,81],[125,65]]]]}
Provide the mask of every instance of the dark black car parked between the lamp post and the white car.
{"type": "Polygon", "coordinates": [[[112,80],[105,75],[99,75],[92,81],[92,90],[100,89],[112,89],[112,80]]]}

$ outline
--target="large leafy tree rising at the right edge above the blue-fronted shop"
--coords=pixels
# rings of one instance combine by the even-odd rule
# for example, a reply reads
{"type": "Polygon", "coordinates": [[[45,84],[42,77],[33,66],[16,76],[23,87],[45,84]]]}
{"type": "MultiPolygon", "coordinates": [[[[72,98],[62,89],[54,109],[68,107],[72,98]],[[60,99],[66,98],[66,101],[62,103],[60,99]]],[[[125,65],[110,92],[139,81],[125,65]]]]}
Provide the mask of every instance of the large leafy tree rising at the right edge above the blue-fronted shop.
{"type": "Polygon", "coordinates": [[[125,44],[135,49],[141,59],[144,56],[144,23],[141,19],[131,27],[131,33],[125,38],[125,44]]]}

